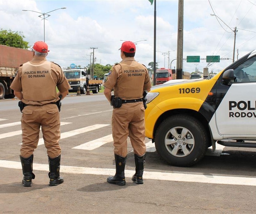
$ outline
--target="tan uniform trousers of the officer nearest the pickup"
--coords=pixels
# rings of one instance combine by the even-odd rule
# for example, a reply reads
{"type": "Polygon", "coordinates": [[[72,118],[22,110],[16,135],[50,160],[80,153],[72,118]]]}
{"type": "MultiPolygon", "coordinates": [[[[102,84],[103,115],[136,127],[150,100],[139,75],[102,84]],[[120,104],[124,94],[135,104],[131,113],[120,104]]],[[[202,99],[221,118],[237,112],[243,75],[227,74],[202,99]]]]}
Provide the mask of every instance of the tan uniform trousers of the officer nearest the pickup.
{"type": "Polygon", "coordinates": [[[113,109],[112,135],[116,155],[127,156],[128,135],[134,153],[138,156],[146,153],[145,108],[143,102],[126,103],[122,104],[120,108],[113,109]]]}

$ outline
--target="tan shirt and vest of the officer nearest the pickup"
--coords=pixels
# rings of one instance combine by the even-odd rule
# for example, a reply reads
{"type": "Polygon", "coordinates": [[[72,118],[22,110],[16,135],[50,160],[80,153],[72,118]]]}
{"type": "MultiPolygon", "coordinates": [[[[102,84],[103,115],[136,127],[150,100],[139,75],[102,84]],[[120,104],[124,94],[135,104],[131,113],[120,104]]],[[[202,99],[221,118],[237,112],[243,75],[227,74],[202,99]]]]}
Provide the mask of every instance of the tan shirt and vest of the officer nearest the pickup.
{"type": "Polygon", "coordinates": [[[143,91],[151,87],[151,82],[146,67],[129,57],[110,69],[103,85],[114,89],[116,97],[133,100],[142,98],[143,91]]]}

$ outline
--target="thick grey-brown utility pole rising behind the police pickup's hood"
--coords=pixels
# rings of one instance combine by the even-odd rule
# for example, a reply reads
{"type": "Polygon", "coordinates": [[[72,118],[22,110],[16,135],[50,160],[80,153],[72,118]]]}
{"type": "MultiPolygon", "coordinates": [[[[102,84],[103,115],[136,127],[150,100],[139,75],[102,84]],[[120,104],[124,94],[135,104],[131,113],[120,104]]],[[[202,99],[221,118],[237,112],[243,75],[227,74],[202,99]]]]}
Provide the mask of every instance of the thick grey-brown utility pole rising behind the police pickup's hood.
{"type": "Polygon", "coordinates": [[[178,39],[177,39],[177,75],[176,79],[182,79],[183,62],[183,0],[179,0],[178,7],[178,39]]]}

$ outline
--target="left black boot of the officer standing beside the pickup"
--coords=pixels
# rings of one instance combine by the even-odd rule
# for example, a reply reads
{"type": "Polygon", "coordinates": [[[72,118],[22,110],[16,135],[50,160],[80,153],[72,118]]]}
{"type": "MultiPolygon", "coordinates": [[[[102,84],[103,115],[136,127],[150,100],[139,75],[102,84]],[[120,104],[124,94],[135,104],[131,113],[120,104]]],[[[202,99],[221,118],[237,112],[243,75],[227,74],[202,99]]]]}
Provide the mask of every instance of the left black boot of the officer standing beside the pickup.
{"type": "Polygon", "coordinates": [[[116,174],[107,178],[107,182],[110,184],[116,184],[119,186],[125,185],[124,168],[126,163],[126,157],[121,157],[115,154],[116,161],[116,174]]]}

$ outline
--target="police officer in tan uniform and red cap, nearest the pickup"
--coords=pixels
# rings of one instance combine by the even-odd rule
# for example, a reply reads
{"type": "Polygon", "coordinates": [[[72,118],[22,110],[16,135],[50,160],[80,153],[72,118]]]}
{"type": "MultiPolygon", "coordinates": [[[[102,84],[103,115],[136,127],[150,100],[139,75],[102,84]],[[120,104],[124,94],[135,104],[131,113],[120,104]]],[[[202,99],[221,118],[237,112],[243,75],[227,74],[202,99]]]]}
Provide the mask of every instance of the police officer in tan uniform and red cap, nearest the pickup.
{"type": "MultiPolygon", "coordinates": [[[[127,137],[130,137],[134,149],[136,184],[143,184],[145,164],[145,108],[143,92],[150,91],[151,82],[146,67],[135,61],[135,44],[122,43],[120,63],[115,64],[104,82],[104,95],[113,105],[112,135],[116,174],[107,178],[110,184],[125,185],[124,168],[127,156],[127,137]],[[111,90],[114,89],[114,97],[111,90]]],[[[120,50],[119,49],[119,50],[120,50]]]]}

